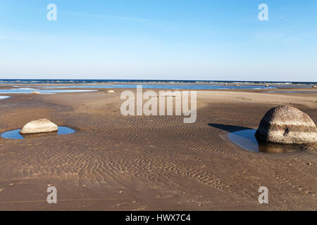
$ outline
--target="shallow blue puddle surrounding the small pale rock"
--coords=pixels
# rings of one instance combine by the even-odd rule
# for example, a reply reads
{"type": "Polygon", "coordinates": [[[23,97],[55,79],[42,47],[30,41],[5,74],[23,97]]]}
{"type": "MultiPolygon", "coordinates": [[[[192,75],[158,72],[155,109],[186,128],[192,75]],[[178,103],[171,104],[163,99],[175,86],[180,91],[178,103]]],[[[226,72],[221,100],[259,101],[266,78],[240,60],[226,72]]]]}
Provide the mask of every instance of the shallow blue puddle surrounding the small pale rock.
{"type": "Polygon", "coordinates": [[[13,131],[6,131],[1,134],[1,137],[4,139],[32,139],[40,136],[49,136],[49,135],[63,135],[63,134],[73,134],[75,130],[68,127],[58,127],[57,132],[41,133],[41,134],[23,134],[19,133],[20,129],[15,129],[13,131]]]}

